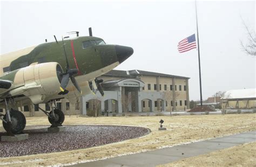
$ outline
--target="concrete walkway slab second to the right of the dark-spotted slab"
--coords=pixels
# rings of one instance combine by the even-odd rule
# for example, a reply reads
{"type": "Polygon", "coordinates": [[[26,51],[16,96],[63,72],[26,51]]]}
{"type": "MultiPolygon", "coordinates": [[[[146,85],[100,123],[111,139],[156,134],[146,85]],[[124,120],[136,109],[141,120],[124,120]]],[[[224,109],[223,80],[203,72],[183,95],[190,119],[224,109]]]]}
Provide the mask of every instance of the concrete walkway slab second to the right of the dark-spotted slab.
{"type": "Polygon", "coordinates": [[[220,137],[216,139],[207,140],[208,142],[220,142],[220,143],[250,143],[254,142],[255,139],[252,138],[239,138],[239,137],[220,137]]]}

